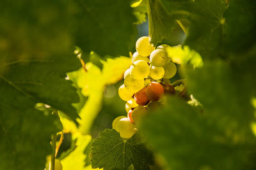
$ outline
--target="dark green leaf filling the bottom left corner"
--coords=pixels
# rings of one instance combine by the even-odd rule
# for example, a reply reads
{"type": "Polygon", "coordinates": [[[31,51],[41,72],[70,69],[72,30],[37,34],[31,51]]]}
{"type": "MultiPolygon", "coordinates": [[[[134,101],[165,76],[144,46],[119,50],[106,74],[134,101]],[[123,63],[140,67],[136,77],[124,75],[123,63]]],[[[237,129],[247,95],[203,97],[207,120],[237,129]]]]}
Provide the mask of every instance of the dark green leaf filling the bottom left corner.
{"type": "Polygon", "coordinates": [[[23,91],[0,80],[0,169],[44,169],[51,134],[61,131],[47,111],[23,91]]]}

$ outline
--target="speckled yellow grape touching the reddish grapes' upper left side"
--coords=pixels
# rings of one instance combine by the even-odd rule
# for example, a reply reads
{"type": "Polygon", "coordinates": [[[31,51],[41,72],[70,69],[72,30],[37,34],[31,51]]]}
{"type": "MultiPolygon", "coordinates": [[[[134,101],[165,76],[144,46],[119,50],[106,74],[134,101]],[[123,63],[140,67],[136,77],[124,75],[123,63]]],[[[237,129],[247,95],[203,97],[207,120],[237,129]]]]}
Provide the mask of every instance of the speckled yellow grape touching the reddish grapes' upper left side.
{"type": "MultiPolygon", "coordinates": [[[[138,80],[135,78],[132,78],[132,76],[129,74],[124,79],[124,85],[127,90],[129,90],[132,93],[138,92],[140,89],[144,87],[144,79],[138,80]]],[[[131,99],[129,99],[131,100],[131,99]]],[[[127,101],[129,101],[127,100],[127,101]]]]}

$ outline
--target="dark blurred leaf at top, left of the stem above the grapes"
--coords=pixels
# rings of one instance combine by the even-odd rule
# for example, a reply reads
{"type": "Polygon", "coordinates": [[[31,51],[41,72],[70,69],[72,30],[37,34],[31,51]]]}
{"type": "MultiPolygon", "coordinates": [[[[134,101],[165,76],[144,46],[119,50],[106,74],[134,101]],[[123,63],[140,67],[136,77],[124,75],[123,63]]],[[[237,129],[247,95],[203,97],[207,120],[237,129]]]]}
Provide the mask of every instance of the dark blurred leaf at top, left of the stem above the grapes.
{"type": "Polygon", "coordinates": [[[129,1],[76,1],[77,45],[101,56],[128,55],[136,40],[129,1]],[[122,6],[122,8],[120,8],[122,6]]]}

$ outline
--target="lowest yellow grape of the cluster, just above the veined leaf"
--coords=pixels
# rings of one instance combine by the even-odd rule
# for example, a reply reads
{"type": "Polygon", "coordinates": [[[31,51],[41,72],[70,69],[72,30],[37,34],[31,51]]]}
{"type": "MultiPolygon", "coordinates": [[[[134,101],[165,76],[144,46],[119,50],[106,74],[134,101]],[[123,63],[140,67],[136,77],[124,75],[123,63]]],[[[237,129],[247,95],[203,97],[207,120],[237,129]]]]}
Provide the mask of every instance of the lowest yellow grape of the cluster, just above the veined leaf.
{"type": "Polygon", "coordinates": [[[115,130],[120,133],[122,138],[131,138],[136,132],[135,126],[129,121],[129,118],[121,118],[115,127],[115,130]]]}

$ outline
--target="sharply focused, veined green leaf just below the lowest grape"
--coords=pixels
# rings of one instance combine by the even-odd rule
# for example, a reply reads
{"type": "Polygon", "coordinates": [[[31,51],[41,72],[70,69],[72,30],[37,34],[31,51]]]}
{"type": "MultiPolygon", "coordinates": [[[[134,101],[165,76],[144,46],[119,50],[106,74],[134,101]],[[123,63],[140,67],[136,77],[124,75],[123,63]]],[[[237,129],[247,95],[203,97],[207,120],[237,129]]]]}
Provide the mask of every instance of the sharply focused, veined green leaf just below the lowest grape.
{"type": "Polygon", "coordinates": [[[114,129],[105,129],[92,143],[92,168],[127,169],[133,164],[134,169],[147,169],[152,164],[152,153],[138,138],[127,140],[120,137],[114,129]]]}

